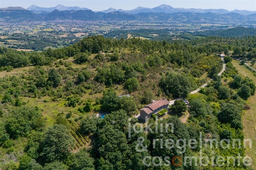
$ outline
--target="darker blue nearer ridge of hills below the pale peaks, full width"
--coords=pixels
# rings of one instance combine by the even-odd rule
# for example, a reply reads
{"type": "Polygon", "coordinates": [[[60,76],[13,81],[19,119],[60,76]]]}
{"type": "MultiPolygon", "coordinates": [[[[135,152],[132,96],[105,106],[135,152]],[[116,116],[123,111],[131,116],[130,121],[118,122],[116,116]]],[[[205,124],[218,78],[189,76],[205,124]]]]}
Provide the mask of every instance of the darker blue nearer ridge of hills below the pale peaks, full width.
{"type": "MultiPolygon", "coordinates": [[[[75,7],[74,7],[75,8],[75,7]]],[[[174,12],[165,13],[171,7],[162,9],[155,8],[155,12],[140,12],[136,14],[112,11],[112,12],[93,12],[92,10],[57,10],[52,12],[32,12],[21,7],[8,7],[0,9],[0,19],[6,22],[11,21],[52,21],[52,20],[84,20],[84,21],[145,21],[145,22],[179,22],[179,23],[256,23],[256,13],[242,15],[239,13],[193,13],[193,12],[174,12]]],[[[144,9],[146,10],[146,9],[144,9]]],[[[111,11],[111,10],[109,10],[111,11]]]]}

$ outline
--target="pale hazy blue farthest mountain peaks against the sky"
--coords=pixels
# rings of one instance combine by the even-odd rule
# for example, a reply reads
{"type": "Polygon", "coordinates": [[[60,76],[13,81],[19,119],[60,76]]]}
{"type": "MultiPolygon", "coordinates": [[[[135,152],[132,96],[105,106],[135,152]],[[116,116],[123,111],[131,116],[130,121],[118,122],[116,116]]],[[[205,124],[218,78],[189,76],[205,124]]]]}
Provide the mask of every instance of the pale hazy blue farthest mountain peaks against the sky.
{"type": "MultiPolygon", "coordinates": [[[[39,7],[36,5],[31,5],[30,7],[27,8],[28,10],[34,11],[34,12],[52,12],[55,9],[59,10],[59,11],[63,11],[63,10],[89,10],[88,8],[81,8],[78,6],[74,6],[74,7],[68,7],[68,6],[64,6],[64,5],[57,5],[55,7],[39,7]]],[[[131,10],[123,10],[123,9],[115,9],[115,8],[109,8],[103,11],[95,11],[95,12],[103,12],[103,13],[109,13],[109,12],[123,12],[123,13],[131,13],[131,14],[138,14],[141,12],[153,12],[153,13],[159,13],[159,12],[163,12],[163,13],[175,13],[175,12],[191,12],[191,13],[207,13],[207,12],[211,12],[211,13],[219,13],[219,14],[226,14],[226,13],[239,13],[242,15],[250,15],[253,13],[256,13],[256,11],[248,11],[248,10],[233,10],[233,11],[228,11],[226,9],[200,9],[200,8],[174,8],[170,5],[167,4],[162,4],[160,6],[154,7],[154,8],[147,8],[147,7],[142,7],[139,6],[135,9],[131,9],[131,10]]]]}

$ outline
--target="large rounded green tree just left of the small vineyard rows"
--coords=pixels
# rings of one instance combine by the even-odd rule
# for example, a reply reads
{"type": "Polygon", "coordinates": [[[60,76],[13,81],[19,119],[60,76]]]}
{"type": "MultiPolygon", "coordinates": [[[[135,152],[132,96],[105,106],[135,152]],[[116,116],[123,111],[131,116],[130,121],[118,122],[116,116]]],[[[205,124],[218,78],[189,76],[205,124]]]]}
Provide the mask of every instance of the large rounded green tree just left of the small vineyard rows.
{"type": "Polygon", "coordinates": [[[70,136],[66,126],[54,124],[44,134],[40,156],[45,163],[64,161],[70,154],[74,144],[75,140],[70,136]]]}

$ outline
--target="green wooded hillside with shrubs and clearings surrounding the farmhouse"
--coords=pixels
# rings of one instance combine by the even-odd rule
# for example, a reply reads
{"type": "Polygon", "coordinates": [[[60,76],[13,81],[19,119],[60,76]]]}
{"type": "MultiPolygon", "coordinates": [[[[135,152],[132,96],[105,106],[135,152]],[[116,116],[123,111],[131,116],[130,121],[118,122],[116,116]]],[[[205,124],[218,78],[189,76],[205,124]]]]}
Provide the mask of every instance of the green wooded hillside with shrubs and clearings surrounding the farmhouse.
{"type": "MultiPolygon", "coordinates": [[[[171,159],[203,154],[211,158],[206,168],[211,169],[218,156],[245,157],[243,144],[231,139],[244,139],[242,113],[250,109],[246,101],[256,85],[231,61],[256,58],[255,42],[255,36],[171,42],[90,36],[40,53],[0,48],[0,169],[200,170],[195,161],[176,166],[178,160],[171,159]],[[223,53],[226,70],[218,76],[223,53]],[[206,88],[190,94],[211,78],[206,88]],[[130,97],[119,97],[126,94],[130,97]],[[129,132],[138,123],[134,115],[152,100],[178,97],[189,107],[175,102],[170,116],[157,124],[156,117],[149,120],[152,131],[129,132]],[[184,112],[190,114],[186,123],[176,116],[184,112]],[[156,133],[161,123],[173,123],[173,133],[156,133]],[[230,139],[235,148],[210,149],[207,142],[208,148],[154,145],[154,139],[199,141],[200,132],[204,141],[230,139]],[[137,151],[139,137],[147,152],[137,151]],[[150,159],[149,166],[143,163],[158,156],[169,156],[169,166],[154,166],[150,159]]],[[[225,161],[214,169],[250,170],[238,160],[236,166],[225,161]]]]}

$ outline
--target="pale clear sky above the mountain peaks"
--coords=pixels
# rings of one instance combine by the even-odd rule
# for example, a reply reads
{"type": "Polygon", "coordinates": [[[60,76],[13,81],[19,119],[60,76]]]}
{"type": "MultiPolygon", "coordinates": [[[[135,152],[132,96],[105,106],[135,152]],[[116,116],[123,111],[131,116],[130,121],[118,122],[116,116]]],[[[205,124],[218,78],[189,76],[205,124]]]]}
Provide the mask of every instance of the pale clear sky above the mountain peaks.
{"type": "Polygon", "coordinates": [[[35,4],[40,7],[53,7],[58,4],[65,6],[86,7],[93,11],[100,11],[110,7],[116,9],[134,9],[138,6],[156,7],[168,4],[180,8],[227,9],[256,11],[256,0],[0,0],[0,7],[21,6],[28,8],[35,4]]]}

